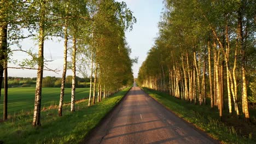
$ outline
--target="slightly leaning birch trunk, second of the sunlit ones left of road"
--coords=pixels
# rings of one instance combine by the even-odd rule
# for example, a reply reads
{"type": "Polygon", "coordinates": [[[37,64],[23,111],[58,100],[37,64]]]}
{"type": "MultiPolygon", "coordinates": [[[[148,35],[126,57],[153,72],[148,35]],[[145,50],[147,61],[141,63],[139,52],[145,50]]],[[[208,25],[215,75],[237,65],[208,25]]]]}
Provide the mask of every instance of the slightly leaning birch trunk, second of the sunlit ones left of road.
{"type": "Polygon", "coordinates": [[[68,41],[68,33],[67,33],[67,20],[65,20],[65,40],[64,40],[64,62],[63,62],[63,73],[61,79],[61,92],[60,92],[60,103],[58,113],[59,116],[62,116],[62,105],[63,105],[63,98],[65,92],[65,82],[66,82],[66,73],[67,73],[67,41],[68,41]]]}

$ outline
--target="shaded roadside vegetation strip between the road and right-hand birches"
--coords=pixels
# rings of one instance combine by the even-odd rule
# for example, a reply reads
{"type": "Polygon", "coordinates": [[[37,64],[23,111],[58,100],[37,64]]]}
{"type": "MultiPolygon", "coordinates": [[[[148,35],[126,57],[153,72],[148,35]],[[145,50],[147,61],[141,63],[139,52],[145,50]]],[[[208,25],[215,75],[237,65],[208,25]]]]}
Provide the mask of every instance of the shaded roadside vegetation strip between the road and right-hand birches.
{"type": "MultiPolygon", "coordinates": [[[[255,143],[256,127],[247,124],[242,119],[229,117],[228,110],[224,111],[225,121],[220,121],[216,109],[208,105],[198,106],[187,101],[172,97],[170,94],[142,87],[150,97],[159,101],[178,117],[193,124],[196,128],[206,131],[208,135],[222,143],[255,143]]],[[[207,101],[210,101],[209,99],[207,101]]],[[[250,111],[256,114],[256,111],[250,111]]]]}

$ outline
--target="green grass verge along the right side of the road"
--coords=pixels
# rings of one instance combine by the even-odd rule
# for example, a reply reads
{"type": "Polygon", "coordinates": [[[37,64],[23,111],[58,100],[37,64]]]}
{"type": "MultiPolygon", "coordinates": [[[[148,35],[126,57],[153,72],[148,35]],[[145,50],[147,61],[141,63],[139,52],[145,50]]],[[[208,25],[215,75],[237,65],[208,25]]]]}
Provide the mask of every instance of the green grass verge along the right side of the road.
{"type": "MultiPolygon", "coordinates": [[[[234,127],[227,126],[219,121],[218,110],[211,109],[210,106],[199,106],[190,104],[186,101],[171,97],[166,93],[154,91],[144,88],[143,90],[150,97],[159,101],[162,105],[176,113],[179,117],[185,119],[195,127],[206,131],[214,139],[220,140],[223,143],[256,143],[252,134],[240,136],[234,127]]],[[[249,127],[249,125],[247,125],[249,127]]]]}

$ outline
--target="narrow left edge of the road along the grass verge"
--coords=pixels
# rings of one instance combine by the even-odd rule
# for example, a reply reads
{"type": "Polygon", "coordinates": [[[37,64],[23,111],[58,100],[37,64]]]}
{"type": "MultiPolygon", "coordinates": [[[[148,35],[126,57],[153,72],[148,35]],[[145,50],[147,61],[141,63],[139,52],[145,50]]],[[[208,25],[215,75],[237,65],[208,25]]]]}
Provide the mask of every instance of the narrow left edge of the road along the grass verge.
{"type": "Polygon", "coordinates": [[[79,143],[86,143],[89,138],[94,135],[96,133],[96,131],[100,128],[100,126],[105,122],[108,121],[108,119],[112,119],[112,117],[114,116],[114,110],[115,108],[117,108],[126,98],[127,94],[130,92],[132,87],[129,88],[129,90],[124,94],[124,97],[121,98],[117,104],[115,104],[115,106],[100,120],[100,122],[98,122],[96,124],[96,126],[94,128],[92,128],[90,131],[88,131],[88,133],[84,136],[83,140],[81,140],[79,143]]]}

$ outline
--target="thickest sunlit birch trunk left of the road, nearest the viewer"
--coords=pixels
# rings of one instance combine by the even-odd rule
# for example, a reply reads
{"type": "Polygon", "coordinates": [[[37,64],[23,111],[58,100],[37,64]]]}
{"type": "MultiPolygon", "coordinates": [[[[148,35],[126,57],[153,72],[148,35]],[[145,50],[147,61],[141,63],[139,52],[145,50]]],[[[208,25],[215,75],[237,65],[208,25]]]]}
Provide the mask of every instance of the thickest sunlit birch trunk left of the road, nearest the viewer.
{"type": "Polygon", "coordinates": [[[36,93],[34,100],[34,115],[33,126],[41,125],[40,112],[41,112],[41,96],[42,96],[42,82],[43,82],[43,69],[44,69],[44,23],[45,23],[45,1],[40,2],[40,17],[39,17],[39,44],[38,44],[38,70],[36,93]]]}

